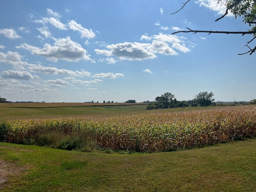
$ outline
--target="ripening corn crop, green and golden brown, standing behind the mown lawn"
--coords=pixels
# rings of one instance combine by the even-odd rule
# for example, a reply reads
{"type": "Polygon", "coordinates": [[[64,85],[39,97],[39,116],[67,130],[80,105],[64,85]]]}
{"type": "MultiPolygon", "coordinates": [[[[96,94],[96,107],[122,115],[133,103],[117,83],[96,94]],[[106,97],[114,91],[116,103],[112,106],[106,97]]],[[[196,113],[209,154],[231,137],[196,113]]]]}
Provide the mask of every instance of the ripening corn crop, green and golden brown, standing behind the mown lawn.
{"type": "Polygon", "coordinates": [[[14,120],[0,122],[0,141],[22,143],[43,130],[85,133],[96,146],[113,150],[170,151],[256,136],[256,106],[159,110],[111,118],[14,120]]]}

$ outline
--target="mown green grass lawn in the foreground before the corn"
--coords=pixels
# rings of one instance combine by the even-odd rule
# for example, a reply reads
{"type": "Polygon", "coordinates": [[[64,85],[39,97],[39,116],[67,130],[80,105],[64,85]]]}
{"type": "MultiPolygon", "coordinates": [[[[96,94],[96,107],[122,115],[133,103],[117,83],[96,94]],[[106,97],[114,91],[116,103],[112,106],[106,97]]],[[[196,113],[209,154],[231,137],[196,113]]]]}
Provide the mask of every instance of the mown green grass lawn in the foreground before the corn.
{"type": "Polygon", "coordinates": [[[2,192],[256,191],[256,139],[194,150],[107,154],[0,143],[2,192]]]}

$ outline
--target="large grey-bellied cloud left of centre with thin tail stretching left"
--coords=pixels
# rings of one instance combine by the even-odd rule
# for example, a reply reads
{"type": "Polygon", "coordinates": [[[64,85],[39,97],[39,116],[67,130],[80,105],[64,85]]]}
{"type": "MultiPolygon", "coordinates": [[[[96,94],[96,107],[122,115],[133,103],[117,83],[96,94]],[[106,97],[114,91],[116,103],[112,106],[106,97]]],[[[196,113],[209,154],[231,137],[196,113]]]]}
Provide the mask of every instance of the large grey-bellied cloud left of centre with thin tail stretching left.
{"type": "Polygon", "coordinates": [[[28,45],[26,43],[16,46],[16,48],[23,48],[29,50],[34,55],[40,55],[57,62],[58,60],[66,61],[79,61],[79,60],[90,60],[88,52],[82,48],[78,42],[74,42],[70,37],[54,39],[55,43],[52,45],[46,43],[44,48],[28,45]]]}

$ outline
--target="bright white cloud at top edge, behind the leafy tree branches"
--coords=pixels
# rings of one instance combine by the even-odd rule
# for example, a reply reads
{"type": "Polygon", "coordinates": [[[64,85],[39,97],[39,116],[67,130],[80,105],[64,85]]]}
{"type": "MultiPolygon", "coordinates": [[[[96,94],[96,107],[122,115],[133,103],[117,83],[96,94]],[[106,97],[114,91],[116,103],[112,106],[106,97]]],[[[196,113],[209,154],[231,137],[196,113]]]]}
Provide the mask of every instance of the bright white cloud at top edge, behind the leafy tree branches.
{"type": "MultiPolygon", "coordinates": [[[[218,3],[217,0],[198,0],[195,3],[199,4],[199,6],[204,6],[209,8],[212,11],[217,12],[218,15],[224,14],[226,12],[226,0],[222,1],[223,3],[218,3]]],[[[229,12],[230,13],[230,12],[229,12]]],[[[233,14],[228,14],[227,16],[233,16],[233,14]]]]}

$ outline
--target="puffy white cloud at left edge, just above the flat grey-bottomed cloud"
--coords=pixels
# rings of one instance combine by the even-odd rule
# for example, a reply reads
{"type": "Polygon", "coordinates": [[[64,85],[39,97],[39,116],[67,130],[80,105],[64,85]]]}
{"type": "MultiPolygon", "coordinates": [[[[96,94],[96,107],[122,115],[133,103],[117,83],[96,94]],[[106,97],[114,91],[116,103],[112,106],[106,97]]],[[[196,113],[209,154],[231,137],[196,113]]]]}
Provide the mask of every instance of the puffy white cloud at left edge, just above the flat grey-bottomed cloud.
{"type": "Polygon", "coordinates": [[[0,62],[11,64],[15,69],[24,70],[24,66],[27,66],[27,62],[22,61],[23,57],[18,52],[8,51],[7,54],[0,52],[0,62]]]}

